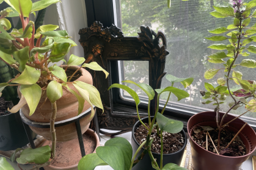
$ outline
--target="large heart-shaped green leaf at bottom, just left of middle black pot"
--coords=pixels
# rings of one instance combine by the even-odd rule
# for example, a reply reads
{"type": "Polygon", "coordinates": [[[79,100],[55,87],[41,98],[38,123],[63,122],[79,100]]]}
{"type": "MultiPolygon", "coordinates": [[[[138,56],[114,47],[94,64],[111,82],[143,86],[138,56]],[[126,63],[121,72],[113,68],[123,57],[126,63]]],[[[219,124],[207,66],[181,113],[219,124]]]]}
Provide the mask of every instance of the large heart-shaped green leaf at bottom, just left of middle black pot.
{"type": "Polygon", "coordinates": [[[96,153],[101,160],[108,163],[114,170],[128,170],[133,148],[125,138],[116,137],[106,141],[104,146],[97,147],[96,153]]]}

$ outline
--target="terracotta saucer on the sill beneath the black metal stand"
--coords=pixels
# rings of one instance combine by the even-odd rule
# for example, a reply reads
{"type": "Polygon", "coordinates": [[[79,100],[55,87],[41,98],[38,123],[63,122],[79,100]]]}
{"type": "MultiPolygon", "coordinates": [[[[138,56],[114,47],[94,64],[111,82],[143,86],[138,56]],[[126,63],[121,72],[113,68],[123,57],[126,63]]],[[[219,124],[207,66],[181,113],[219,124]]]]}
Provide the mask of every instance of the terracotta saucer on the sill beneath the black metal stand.
{"type": "MultiPolygon", "coordinates": [[[[98,138],[98,135],[97,135],[97,133],[93,132],[92,129],[88,129],[86,131],[86,133],[89,134],[93,138],[93,140],[95,142],[94,144],[96,146],[94,151],[93,151],[93,153],[96,153],[96,148],[98,146],[100,146],[100,140],[98,138]]],[[[43,143],[43,146],[45,146],[47,144],[49,144],[49,141],[45,141],[43,143]]],[[[78,170],[78,162],[82,158],[81,152],[80,152],[79,143],[78,143],[78,139],[67,141],[65,143],[61,143],[60,145],[62,146],[63,149],[61,151],[59,151],[59,152],[56,151],[56,158],[57,158],[56,161],[60,165],[62,165],[62,163],[67,163],[67,160],[68,161],[75,161],[77,163],[75,163],[75,165],[71,165],[71,166],[62,166],[62,167],[60,167],[60,166],[49,165],[49,166],[44,166],[43,168],[45,170],[53,170],[53,169],[54,170],[55,169],[78,170]],[[62,159],[60,159],[60,157],[62,157],[62,159]]],[[[86,143],[84,141],[84,147],[86,148],[86,146],[88,146],[88,145],[92,146],[92,143],[86,143]]],[[[56,144],[56,147],[58,147],[58,143],[56,144]]],[[[86,154],[91,154],[91,153],[88,153],[86,151],[86,154]]],[[[53,161],[52,161],[52,163],[53,163],[53,161]]]]}

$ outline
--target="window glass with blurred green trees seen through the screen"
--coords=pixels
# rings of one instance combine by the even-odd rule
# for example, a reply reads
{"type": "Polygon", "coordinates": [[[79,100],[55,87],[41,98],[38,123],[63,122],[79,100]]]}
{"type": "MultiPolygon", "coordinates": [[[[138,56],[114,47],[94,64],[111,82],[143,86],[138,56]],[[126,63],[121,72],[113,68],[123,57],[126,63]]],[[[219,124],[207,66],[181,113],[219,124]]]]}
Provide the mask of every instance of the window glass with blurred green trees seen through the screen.
{"type": "MultiPolygon", "coordinates": [[[[170,9],[167,7],[167,1],[163,0],[120,0],[120,2],[122,30],[125,36],[137,36],[140,26],[149,26],[151,29],[155,30],[155,32],[157,32],[157,30],[163,30],[167,37],[167,50],[170,52],[170,54],[167,55],[165,71],[167,74],[172,74],[180,78],[194,78],[192,85],[185,89],[190,94],[190,97],[182,99],[179,103],[214,109],[214,106],[211,104],[203,105],[201,103],[205,100],[202,99],[200,90],[205,90],[204,82],[211,83],[214,87],[218,86],[216,80],[220,75],[222,76],[224,74],[219,73],[219,75],[217,74],[211,80],[206,80],[203,75],[207,69],[219,69],[224,68],[224,66],[222,64],[207,62],[207,56],[218,51],[207,48],[214,42],[204,37],[212,36],[207,30],[213,30],[217,27],[227,27],[229,24],[233,24],[230,18],[217,19],[209,14],[214,10],[213,5],[229,5],[229,1],[172,0],[170,9]]],[[[255,18],[252,18],[251,25],[256,23],[255,20],[255,18]]],[[[229,41],[218,41],[216,43],[228,44],[229,41]]],[[[255,54],[251,54],[250,57],[254,57],[253,55],[255,54]]],[[[240,57],[240,60],[243,60],[243,58],[240,57]]],[[[237,63],[239,62],[241,61],[237,61],[237,63]]],[[[143,68],[141,63],[131,62],[130,66],[143,68]]],[[[236,69],[244,73],[243,79],[255,80],[256,74],[250,74],[253,71],[252,68],[237,67],[236,69]]],[[[138,73],[129,70],[130,69],[126,71],[125,68],[125,73],[129,73],[130,79],[137,76],[138,73]]],[[[141,73],[142,72],[141,70],[141,73]]],[[[143,80],[142,75],[139,77],[140,80],[143,80]]],[[[161,88],[167,86],[170,86],[170,83],[164,77],[161,88]]],[[[176,83],[174,87],[182,89],[183,86],[176,83]]],[[[238,85],[231,83],[231,91],[238,89],[240,89],[238,85]]],[[[168,93],[163,94],[161,99],[167,99],[167,96],[168,93]]],[[[172,95],[170,102],[177,102],[177,97],[172,95]]],[[[221,111],[227,111],[230,102],[232,102],[232,99],[227,99],[225,104],[221,105],[221,111]]],[[[241,114],[244,110],[244,107],[240,107],[238,110],[233,110],[232,113],[241,114]]],[[[256,114],[253,113],[247,113],[246,116],[256,118],[256,114]]]]}

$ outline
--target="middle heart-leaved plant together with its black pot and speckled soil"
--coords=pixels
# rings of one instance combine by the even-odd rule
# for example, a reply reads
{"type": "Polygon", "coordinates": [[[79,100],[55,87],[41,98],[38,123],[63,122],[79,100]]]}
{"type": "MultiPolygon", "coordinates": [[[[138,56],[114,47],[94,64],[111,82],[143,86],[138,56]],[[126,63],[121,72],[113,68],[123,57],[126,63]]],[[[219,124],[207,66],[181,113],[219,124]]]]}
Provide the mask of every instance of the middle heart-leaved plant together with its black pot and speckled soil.
{"type": "Polygon", "coordinates": [[[132,90],[130,87],[127,87],[126,85],[117,83],[109,87],[109,89],[121,88],[126,90],[133,97],[136,103],[136,110],[139,121],[137,121],[133,127],[133,136],[131,140],[132,145],[123,138],[113,138],[107,141],[104,146],[98,147],[96,154],[89,154],[83,157],[78,164],[79,170],[90,170],[99,165],[110,165],[115,170],[132,169],[133,166],[133,169],[185,169],[176,165],[181,163],[186,146],[186,134],[183,130],[183,122],[166,118],[163,113],[171,93],[178,97],[178,101],[189,97],[189,94],[186,91],[173,87],[174,83],[180,82],[186,88],[192,83],[194,79],[179,79],[171,75],[167,75],[166,78],[170,81],[171,86],[164,89],[155,90],[157,93],[157,108],[155,111],[155,116],[152,117],[150,117],[149,108],[150,101],[155,97],[155,91],[153,88],[145,83],[135,83],[130,80],[123,81],[125,83],[133,83],[147,94],[148,117],[143,119],[140,118],[138,110],[138,105],[141,101],[139,100],[139,96],[134,90],[132,90]],[[163,110],[161,113],[159,113],[159,99],[161,94],[164,92],[169,92],[169,96],[163,110]],[[178,133],[178,135],[175,133],[178,133]],[[143,135],[144,137],[142,137],[143,135]],[[169,136],[171,136],[170,138],[176,138],[178,143],[180,143],[180,147],[177,149],[178,151],[176,150],[177,152],[172,153],[172,149],[174,149],[174,147],[178,147],[178,145],[174,145],[174,147],[171,146],[171,149],[167,148],[169,147],[170,143],[166,140],[166,138],[168,139],[169,136]],[[137,141],[136,138],[139,138],[140,140],[137,141]],[[180,139],[180,141],[178,139],[180,139]],[[164,154],[164,152],[166,154],[164,154]],[[132,155],[133,158],[131,158],[132,155]],[[89,164],[89,162],[90,166],[86,166],[89,164]]]}

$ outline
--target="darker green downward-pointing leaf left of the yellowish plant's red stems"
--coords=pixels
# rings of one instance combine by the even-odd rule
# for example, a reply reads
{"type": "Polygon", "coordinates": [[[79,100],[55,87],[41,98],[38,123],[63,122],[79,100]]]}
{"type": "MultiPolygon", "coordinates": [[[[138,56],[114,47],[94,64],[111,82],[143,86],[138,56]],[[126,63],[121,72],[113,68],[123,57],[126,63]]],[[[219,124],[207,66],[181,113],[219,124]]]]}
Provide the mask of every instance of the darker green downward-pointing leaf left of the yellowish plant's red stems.
{"type": "Polygon", "coordinates": [[[22,72],[25,69],[26,63],[29,60],[29,46],[20,49],[19,51],[13,52],[13,57],[20,64],[19,71],[22,72]]]}

